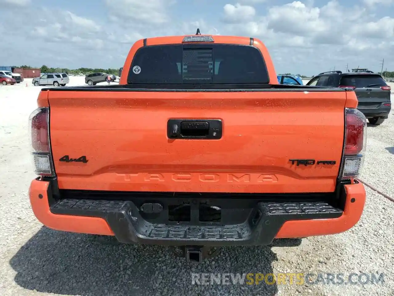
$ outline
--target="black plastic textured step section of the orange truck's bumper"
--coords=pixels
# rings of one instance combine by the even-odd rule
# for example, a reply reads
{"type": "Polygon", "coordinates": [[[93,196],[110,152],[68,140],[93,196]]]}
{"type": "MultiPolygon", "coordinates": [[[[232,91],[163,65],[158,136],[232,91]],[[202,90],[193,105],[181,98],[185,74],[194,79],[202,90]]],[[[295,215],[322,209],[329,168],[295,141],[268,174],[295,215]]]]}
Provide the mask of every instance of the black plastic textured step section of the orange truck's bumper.
{"type": "Polygon", "coordinates": [[[243,223],[233,225],[150,223],[130,200],[63,199],[50,209],[53,214],[104,218],[121,242],[167,245],[268,245],[286,221],[342,215],[342,210],[322,201],[257,202],[243,223]]]}

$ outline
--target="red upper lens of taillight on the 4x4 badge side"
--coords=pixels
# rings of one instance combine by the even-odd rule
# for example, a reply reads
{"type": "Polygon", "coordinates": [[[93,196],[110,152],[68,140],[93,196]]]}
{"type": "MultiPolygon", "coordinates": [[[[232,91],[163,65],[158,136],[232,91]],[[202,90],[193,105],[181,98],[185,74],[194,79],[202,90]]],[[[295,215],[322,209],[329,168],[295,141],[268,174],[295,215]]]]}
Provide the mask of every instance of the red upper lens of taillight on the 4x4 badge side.
{"type": "Polygon", "coordinates": [[[39,108],[30,116],[31,121],[31,141],[35,152],[50,152],[49,131],[48,131],[48,108],[39,108]]]}

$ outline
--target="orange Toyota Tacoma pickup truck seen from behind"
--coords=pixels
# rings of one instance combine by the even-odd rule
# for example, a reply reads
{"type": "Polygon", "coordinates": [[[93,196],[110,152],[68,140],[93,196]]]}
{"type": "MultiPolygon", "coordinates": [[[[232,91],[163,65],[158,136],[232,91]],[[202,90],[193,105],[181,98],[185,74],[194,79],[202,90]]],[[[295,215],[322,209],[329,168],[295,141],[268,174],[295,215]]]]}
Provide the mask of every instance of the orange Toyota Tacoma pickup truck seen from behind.
{"type": "Polygon", "coordinates": [[[119,85],[43,88],[30,116],[32,210],[56,230],[206,248],[346,231],[365,190],[351,89],[278,84],[264,44],[137,41],[119,85]]]}

